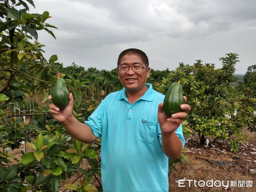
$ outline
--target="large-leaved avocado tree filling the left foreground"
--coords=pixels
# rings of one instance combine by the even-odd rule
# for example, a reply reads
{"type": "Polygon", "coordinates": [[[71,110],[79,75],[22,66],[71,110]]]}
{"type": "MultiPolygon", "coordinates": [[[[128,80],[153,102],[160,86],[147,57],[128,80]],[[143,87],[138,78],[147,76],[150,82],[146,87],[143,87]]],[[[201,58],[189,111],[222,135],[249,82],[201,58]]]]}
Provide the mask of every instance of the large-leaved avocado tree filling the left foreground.
{"type": "MultiPolygon", "coordinates": [[[[79,169],[85,178],[80,182],[82,190],[96,191],[90,183],[99,172],[96,151],[100,145],[85,145],[72,139],[49,115],[48,105],[32,114],[29,125],[21,117],[26,114],[12,113],[28,96],[39,93],[43,102],[47,100],[55,81],[52,76],[62,67],[56,62],[57,55],[44,58],[44,45],[37,41],[38,30],[45,30],[55,38],[50,29],[56,27],[46,23],[51,18],[49,12],[29,13],[28,4],[35,7],[32,0],[0,1],[0,191],[57,192],[61,180],[70,178],[79,169]],[[21,159],[6,150],[19,148],[23,141],[31,151],[22,151],[21,159]],[[90,162],[89,170],[81,169],[83,159],[90,162]]],[[[78,96],[87,82],[67,77],[64,76],[67,87],[78,96]]],[[[75,110],[74,116],[84,121],[75,110]]]]}

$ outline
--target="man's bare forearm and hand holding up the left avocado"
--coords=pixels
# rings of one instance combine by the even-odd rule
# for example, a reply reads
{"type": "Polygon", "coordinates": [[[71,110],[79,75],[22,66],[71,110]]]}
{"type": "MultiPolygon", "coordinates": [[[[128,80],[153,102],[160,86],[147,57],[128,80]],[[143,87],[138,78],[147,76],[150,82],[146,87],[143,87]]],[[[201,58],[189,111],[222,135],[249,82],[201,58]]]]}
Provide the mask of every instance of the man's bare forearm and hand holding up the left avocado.
{"type": "MultiPolygon", "coordinates": [[[[52,96],[48,96],[51,100],[52,96]]],[[[69,103],[66,108],[60,109],[56,107],[53,103],[49,105],[49,112],[52,116],[64,125],[67,132],[74,137],[76,140],[82,141],[84,143],[91,143],[97,139],[93,134],[90,127],[82,122],[79,122],[73,116],[73,96],[72,93],[69,94],[69,103]]]]}

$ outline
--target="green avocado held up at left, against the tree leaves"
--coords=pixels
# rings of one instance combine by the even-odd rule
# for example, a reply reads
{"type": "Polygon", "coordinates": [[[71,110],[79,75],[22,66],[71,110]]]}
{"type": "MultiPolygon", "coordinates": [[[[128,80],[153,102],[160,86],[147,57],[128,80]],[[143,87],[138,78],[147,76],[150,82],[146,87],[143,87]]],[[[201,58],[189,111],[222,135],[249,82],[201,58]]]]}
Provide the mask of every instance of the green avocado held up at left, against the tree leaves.
{"type": "Polygon", "coordinates": [[[68,90],[64,79],[57,79],[52,90],[52,102],[58,108],[65,108],[68,104],[68,90]]]}

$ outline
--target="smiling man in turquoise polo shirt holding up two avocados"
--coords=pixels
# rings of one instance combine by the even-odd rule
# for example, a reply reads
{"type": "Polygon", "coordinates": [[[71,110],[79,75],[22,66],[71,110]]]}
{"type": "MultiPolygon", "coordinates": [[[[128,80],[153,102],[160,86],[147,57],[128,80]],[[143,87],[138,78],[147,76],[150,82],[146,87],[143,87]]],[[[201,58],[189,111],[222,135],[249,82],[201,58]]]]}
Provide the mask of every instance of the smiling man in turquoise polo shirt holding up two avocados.
{"type": "Polygon", "coordinates": [[[102,137],[104,192],[169,190],[168,158],[180,157],[185,143],[181,121],[190,107],[180,105],[182,112],[166,116],[164,95],[146,83],[150,73],[148,64],[147,55],[140,49],[122,51],[117,73],[124,88],[102,100],[85,123],[72,115],[72,94],[67,108],[49,106],[52,116],[77,140],[91,143],[102,137]]]}

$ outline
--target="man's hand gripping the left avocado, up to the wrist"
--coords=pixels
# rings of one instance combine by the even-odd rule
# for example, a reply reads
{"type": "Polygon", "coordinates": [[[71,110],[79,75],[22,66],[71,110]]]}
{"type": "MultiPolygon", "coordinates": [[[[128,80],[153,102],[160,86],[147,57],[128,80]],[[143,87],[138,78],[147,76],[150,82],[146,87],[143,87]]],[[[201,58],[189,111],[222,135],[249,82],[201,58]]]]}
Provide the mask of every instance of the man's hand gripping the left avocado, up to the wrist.
{"type": "MultiPolygon", "coordinates": [[[[52,100],[52,96],[48,96],[49,100],[52,100]]],[[[53,103],[49,105],[49,113],[53,116],[54,119],[58,120],[59,122],[64,122],[67,119],[70,119],[73,116],[73,103],[74,99],[72,93],[69,94],[69,102],[66,108],[60,109],[53,103]]]]}

